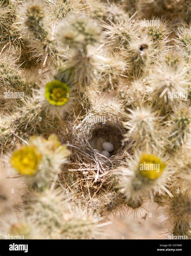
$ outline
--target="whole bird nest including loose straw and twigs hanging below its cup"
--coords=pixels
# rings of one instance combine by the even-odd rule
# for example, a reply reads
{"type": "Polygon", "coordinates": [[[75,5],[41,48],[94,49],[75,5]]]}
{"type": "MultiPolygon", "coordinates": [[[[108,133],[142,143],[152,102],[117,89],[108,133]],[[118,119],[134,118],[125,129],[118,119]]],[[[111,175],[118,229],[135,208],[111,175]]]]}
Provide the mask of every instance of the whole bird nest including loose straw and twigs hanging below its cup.
{"type": "Polygon", "coordinates": [[[107,108],[91,110],[83,120],[75,120],[63,138],[72,151],[69,163],[64,165],[66,186],[76,188],[83,195],[87,192],[90,197],[115,190],[117,179],[113,178],[112,170],[124,164],[127,150],[127,142],[122,142],[123,134],[122,116],[107,108]],[[101,150],[105,141],[114,146],[110,158],[93,151],[101,150]]]}

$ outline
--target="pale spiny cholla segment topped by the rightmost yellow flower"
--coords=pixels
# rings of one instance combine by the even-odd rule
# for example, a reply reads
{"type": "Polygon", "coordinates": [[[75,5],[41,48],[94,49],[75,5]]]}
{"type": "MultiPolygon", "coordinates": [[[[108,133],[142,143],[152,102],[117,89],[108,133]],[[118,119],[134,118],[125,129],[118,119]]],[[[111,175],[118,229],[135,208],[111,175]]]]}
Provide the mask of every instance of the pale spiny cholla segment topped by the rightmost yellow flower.
{"type": "Polygon", "coordinates": [[[154,154],[135,154],[135,158],[129,161],[129,168],[122,169],[122,188],[125,191],[127,205],[141,206],[142,198],[154,198],[156,193],[172,194],[168,190],[170,177],[173,171],[169,169],[169,163],[154,154]]]}

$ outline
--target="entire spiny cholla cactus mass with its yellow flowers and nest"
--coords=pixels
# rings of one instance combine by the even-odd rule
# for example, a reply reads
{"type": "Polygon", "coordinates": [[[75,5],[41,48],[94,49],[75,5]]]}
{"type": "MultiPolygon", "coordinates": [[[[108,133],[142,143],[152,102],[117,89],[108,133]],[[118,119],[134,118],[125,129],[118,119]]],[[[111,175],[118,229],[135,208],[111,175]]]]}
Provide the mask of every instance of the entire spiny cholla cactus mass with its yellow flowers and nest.
{"type": "Polygon", "coordinates": [[[99,238],[148,202],[189,237],[189,8],[0,1],[2,238],[99,238]]]}

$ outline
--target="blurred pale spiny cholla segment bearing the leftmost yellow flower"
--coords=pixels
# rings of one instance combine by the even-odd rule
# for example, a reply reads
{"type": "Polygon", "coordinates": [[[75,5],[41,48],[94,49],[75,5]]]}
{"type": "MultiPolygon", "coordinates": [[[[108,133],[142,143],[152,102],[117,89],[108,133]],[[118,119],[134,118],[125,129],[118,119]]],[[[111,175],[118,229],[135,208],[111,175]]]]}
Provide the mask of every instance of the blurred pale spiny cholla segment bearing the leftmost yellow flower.
{"type": "Polygon", "coordinates": [[[61,145],[56,135],[48,140],[31,136],[26,146],[15,149],[10,157],[10,165],[34,189],[44,190],[60,173],[60,165],[66,161],[69,150],[61,145]]]}

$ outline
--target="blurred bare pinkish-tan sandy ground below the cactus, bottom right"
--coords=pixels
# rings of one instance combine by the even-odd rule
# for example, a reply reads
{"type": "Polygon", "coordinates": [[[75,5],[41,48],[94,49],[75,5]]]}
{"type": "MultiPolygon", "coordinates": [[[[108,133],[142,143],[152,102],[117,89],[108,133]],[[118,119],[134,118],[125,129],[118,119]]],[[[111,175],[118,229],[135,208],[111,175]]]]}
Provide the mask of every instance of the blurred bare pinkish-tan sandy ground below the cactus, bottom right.
{"type": "Polygon", "coordinates": [[[104,227],[105,237],[100,239],[165,239],[165,217],[156,204],[147,204],[140,213],[110,216],[112,224],[104,227]],[[146,210],[147,209],[147,210],[146,210]]]}

